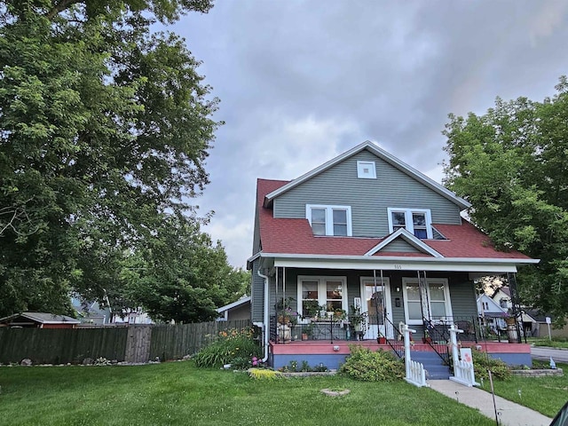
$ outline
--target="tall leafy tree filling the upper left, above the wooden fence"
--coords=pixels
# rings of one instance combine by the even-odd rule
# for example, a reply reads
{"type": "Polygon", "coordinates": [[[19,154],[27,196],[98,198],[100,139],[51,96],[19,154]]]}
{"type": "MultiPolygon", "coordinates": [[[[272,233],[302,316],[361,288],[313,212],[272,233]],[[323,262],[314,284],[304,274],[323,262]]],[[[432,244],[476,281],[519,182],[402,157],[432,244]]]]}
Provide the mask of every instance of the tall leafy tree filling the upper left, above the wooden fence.
{"type": "Polygon", "coordinates": [[[0,3],[0,317],[103,296],[208,183],[217,99],[151,25],[210,0],[0,3]]]}

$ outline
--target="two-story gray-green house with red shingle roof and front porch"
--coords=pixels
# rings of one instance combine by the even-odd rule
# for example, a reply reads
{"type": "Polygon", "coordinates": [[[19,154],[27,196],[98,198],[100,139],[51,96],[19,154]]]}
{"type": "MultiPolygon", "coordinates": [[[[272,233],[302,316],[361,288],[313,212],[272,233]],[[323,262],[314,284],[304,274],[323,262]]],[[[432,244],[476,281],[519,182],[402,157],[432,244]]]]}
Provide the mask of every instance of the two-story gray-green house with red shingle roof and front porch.
{"type": "MultiPolygon", "coordinates": [[[[337,342],[354,336],[388,343],[399,339],[401,324],[418,333],[471,327],[478,318],[473,280],[538,260],[494,249],[461,217],[469,206],[371,142],[291,181],[258,179],[248,269],[265,358],[273,367],[290,360],[337,367],[349,354],[337,342]],[[353,309],[363,315],[361,331],[355,316],[343,318],[353,309]],[[326,311],[343,319],[336,328],[326,311]],[[327,345],[296,342],[307,331],[327,345]]],[[[517,364],[530,362],[529,351],[517,364]]]]}

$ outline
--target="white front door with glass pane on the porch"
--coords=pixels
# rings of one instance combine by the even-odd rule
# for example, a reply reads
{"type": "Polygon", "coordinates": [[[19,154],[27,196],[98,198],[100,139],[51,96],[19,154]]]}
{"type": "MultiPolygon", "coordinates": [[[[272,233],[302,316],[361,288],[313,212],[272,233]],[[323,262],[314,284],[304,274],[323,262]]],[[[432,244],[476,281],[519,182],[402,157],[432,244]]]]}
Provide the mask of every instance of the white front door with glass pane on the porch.
{"type": "Polygon", "coordinates": [[[380,335],[389,339],[394,338],[391,327],[385,327],[384,317],[392,322],[392,310],[390,309],[390,283],[384,279],[363,278],[361,279],[361,312],[367,312],[367,330],[365,339],[376,339],[380,335]],[[387,330],[389,332],[387,333],[387,330]]]}

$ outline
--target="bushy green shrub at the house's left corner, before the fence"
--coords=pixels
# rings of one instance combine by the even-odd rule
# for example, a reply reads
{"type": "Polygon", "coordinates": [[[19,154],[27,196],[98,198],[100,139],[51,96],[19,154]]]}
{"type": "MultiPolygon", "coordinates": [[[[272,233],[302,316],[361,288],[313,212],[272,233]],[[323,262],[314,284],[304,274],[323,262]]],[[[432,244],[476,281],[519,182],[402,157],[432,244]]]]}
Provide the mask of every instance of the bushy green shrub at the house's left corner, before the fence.
{"type": "Polygon", "coordinates": [[[253,339],[250,329],[222,331],[215,342],[209,343],[195,355],[197,367],[223,367],[246,369],[253,357],[260,357],[261,348],[253,339]]]}

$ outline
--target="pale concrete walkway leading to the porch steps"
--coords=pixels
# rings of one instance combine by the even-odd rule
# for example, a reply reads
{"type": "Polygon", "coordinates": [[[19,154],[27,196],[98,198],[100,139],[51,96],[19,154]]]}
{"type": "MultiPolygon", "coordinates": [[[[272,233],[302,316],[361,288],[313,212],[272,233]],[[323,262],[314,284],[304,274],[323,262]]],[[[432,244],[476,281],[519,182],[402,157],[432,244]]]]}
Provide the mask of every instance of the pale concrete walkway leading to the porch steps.
{"type": "Polygon", "coordinates": [[[495,406],[499,416],[499,424],[503,426],[548,426],[552,419],[536,411],[519,406],[508,399],[477,388],[469,388],[450,380],[430,380],[430,388],[436,390],[448,398],[457,399],[458,402],[472,408],[477,408],[481,414],[495,419],[495,406]]]}

